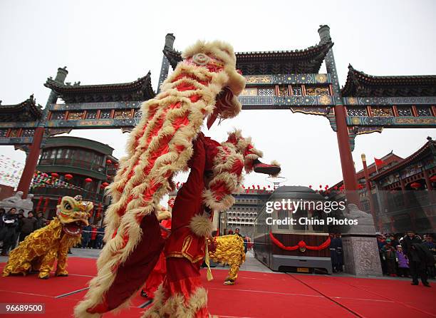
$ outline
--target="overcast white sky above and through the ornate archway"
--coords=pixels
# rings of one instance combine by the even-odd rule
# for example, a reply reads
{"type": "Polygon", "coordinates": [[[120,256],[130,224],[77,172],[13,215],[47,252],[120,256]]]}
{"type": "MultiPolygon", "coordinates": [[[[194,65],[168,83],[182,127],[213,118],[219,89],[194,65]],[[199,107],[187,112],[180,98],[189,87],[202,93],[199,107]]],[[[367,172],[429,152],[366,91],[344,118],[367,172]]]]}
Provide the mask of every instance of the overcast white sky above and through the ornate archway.
{"type": "MultiPolygon", "coordinates": [[[[341,86],[347,66],[371,75],[436,74],[436,1],[0,1],[0,99],[4,105],[31,93],[45,106],[48,76],[68,66],[68,82],[82,84],[134,81],[152,72],[153,87],[162,61],[165,34],[175,48],[197,39],[222,39],[235,51],[306,48],[319,41],[320,24],[331,27],[341,86]]],[[[321,68],[325,71],[325,67],[321,68]]],[[[336,133],[326,118],[291,111],[243,111],[214,126],[207,135],[226,138],[241,128],[251,135],[266,161],[282,164],[288,185],[333,185],[342,179],[336,133]]],[[[120,130],[75,130],[122,156],[126,135],[120,130]]],[[[369,162],[393,150],[408,156],[434,129],[385,129],[356,138],[369,162]]],[[[0,153],[24,163],[24,153],[0,146],[0,153]]],[[[180,176],[179,178],[182,178],[180,176]]],[[[246,185],[266,185],[246,176],[246,185]]]]}

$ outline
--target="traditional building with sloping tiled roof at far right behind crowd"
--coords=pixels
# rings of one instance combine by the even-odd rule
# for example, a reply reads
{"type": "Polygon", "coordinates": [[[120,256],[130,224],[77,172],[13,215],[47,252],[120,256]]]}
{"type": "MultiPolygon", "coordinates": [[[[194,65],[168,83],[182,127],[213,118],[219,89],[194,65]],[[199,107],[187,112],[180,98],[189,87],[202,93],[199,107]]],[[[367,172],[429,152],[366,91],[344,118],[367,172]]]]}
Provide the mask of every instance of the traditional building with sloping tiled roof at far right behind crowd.
{"type": "MultiPolygon", "coordinates": [[[[362,209],[373,213],[378,230],[435,231],[436,142],[427,139],[425,145],[407,158],[388,153],[378,167],[374,163],[368,165],[366,177],[365,170],[357,173],[362,209]]],[[[331,188],[332,198],[344,197],[341,191],[335,190],[341,185],[342,182],[331,188]]]]}

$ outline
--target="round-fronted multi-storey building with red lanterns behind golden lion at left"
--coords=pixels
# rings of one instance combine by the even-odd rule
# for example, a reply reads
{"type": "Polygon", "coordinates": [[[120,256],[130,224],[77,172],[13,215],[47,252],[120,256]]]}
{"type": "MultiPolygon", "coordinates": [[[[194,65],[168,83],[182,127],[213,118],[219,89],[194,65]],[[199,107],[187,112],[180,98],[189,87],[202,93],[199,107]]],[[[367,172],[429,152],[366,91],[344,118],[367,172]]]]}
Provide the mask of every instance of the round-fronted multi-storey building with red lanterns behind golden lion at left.
{"type": "Polygon", "coordinates": [[[105,187],[113,180],[118,159],[113,148],[85,138],[61,136],[47,138],[36,166],[31,193],[35,210],[53,217],[63,196],[81,195],[94,203],[92,221],[101,220],[105,187]]]}

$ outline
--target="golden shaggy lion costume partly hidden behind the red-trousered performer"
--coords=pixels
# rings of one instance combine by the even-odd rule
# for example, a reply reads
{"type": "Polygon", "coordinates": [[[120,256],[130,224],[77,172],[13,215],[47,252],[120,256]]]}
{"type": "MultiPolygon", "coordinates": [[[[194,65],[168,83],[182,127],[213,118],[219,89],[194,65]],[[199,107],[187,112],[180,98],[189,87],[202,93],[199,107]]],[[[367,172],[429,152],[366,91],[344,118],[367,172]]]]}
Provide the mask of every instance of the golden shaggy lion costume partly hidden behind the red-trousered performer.
{"type": "Polygon", "coordinates": [[[239,267],[245,262],[244,240],[239,235],[224,235],[214,238],[214,251],[209,252],[209,257],[214,262],[228,264],[229,276],[224,285],[234,285],[238,277],[239,267]]]}

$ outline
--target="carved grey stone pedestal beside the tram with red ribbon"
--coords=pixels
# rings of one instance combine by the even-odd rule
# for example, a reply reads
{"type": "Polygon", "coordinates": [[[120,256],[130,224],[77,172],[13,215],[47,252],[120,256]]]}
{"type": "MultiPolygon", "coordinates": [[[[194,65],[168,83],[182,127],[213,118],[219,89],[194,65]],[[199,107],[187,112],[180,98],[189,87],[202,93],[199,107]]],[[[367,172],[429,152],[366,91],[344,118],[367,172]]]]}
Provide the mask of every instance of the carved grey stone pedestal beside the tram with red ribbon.
{"type": "Polygon", "coordinates": [[[345,271],[356,276],[383,276],[375,235],[342,235],[345,271]]]}

